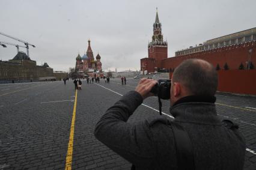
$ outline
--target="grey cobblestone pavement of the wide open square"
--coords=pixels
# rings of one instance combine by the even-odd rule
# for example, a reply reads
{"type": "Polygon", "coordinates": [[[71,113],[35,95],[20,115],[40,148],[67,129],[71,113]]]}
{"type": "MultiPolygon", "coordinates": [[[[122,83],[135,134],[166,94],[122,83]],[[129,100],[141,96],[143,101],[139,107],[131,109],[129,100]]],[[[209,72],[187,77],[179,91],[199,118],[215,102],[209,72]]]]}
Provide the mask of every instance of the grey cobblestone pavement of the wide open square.
{"type": "MultiPolygon", "coordinates": [[[[93,132],[106,109],[137,83],[138,79],[127,79],[123,86],[119,79],[83,82],[77,95],[72,169],[130,169],[130,163],[97,141],[93,132]]],[[[245,135],[245,169],[256,169],[256,97],[226,93],[216,97],[219,116],[239,124],[245,135]]],[[[73,82],[0,85],[0,169],[64,169],[74,103],[73,82]]],[[[162,103],[163,113],[170,115],[169,101],[162,103]]],[[[158,110],[157,98],[144,100],[129,122],[158,114],[147,106],[158,110]]]]}

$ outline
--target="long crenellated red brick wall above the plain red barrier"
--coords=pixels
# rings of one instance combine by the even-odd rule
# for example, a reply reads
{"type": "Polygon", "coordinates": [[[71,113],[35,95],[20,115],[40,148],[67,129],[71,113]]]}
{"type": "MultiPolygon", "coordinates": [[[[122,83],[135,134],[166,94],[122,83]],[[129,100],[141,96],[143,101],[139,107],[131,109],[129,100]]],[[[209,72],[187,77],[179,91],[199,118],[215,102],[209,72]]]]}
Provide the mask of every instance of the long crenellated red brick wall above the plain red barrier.
{"type": "Polygon", "coordinates": [[[256,67],[256,42],[244,43],[234,46],[221,47],[214,50],[207,50],[205,52],[197,52],[189,55],[171,57],[163,59],[162,68],[175,68],[184,59],[200,58],[213,64],[216,67],[217,64],[224,69],[224,64],[227,62],[230,70],[236,70],[239,68],[241,62],[246,67],[246,61],[248,61],[249,49],[252,49],[251,61],[256,67]]]}

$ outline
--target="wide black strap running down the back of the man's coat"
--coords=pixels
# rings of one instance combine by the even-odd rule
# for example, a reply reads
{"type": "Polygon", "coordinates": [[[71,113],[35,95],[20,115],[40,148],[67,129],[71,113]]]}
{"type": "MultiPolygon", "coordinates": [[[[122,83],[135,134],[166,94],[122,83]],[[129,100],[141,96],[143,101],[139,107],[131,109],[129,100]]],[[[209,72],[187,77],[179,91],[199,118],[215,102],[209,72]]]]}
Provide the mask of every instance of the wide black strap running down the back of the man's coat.
{"type": "Polygon", "coordinates": [[[187,134],[180,124],[171,123],[172,132],[174,134],[174,142],[176,145],[177,165],[179,170],[194,170],[194,154],[192,143],[187,134]]]}

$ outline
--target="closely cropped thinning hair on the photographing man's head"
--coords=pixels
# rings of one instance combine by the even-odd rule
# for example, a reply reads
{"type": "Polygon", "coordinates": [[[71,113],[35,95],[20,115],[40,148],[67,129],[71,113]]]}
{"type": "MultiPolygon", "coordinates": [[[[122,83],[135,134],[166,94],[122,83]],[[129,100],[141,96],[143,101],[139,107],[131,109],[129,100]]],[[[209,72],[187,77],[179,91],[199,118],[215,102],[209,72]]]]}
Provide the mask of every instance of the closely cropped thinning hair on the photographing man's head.
{"type": "Polygon", "coordinates": [[[218,73],[203,59],[186,59],[175,68],[173,82],[180,82],[191,95],[214,96],[218,88],[218,73]]]}

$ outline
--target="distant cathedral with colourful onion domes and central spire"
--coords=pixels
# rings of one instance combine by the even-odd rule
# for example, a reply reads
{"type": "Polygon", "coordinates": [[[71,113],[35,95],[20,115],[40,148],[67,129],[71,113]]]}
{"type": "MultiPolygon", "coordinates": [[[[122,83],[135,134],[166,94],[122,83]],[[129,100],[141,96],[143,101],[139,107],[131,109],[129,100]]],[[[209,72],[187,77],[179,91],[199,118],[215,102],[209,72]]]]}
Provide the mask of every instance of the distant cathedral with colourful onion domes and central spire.
{"type": "Polygon", "coordinates": [[[91,41],[88,40],[87,53],[82,57],[78,53],[76,57],[75,72],[78,78],[89,77],[103,77],[102,62],[100,62],[99,53],[96,56],[96,60],[93,56],[93,50],[91,50],[91,41]]]}

